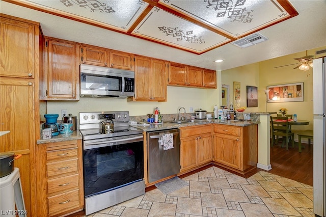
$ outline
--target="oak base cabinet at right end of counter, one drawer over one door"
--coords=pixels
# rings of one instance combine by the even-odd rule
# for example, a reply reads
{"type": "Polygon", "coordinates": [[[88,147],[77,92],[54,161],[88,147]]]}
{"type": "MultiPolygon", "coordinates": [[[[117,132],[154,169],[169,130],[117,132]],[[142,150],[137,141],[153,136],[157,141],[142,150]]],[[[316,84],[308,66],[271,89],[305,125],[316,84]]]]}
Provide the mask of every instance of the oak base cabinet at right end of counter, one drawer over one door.
{"type": "Polygon", "coordinates": [[[254,169],[258,162],[257,132],[257,125],[214,124],[213,160],[219,166],[242,174],[254,169]]]}

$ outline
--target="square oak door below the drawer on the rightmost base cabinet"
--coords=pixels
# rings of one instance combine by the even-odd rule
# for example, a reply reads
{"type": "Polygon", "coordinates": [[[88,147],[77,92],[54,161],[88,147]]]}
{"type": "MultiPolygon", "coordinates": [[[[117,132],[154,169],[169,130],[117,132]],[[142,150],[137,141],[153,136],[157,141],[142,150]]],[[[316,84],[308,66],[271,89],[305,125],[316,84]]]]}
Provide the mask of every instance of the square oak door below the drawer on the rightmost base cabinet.
{"type": "Polygon", "coordinates": [[[238,137],[214,134],[214,160],[241,170],[240,140],[238,137]]]}

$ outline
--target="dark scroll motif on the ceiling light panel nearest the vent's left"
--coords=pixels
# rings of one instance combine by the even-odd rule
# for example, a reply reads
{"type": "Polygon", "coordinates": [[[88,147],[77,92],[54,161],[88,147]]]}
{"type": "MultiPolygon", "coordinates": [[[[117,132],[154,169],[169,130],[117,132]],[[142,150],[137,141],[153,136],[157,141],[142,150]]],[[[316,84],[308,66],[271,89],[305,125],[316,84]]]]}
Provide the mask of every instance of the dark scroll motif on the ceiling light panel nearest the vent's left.
{"type": "Polygon", "coordinates": [[[178,30],[178,28],[171,28],[167,26],[158,26],[159,31],[166,34],[166,36],[176,37],[177,41],[187,41],[189,43],[196,44],[205,44],[205,41],[202,40],[202,37],[197,37],[193,35],[193,31],[184,31],[178,30]]]}

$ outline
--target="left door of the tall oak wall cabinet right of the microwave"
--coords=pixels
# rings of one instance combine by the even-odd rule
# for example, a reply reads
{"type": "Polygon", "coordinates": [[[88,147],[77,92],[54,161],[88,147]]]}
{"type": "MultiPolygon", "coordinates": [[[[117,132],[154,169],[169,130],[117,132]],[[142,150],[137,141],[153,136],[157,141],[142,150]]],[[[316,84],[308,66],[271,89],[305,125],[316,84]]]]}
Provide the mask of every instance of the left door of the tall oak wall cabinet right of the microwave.
{"type": "Polygon", "coordinates": [[[135,99],[151,100],[151,60],[135,57],[135,99]]]}

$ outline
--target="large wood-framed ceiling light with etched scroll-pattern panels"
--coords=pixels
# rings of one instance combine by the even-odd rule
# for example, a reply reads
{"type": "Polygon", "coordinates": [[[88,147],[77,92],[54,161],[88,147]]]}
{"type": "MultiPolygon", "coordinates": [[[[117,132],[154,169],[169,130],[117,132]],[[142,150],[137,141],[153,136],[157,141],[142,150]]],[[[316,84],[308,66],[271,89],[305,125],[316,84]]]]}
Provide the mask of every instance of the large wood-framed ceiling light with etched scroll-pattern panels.
{"type": "Polygon", "coordinates": [[[288,0],[3,1],[198,55],[298,15],[288,0]]]}

